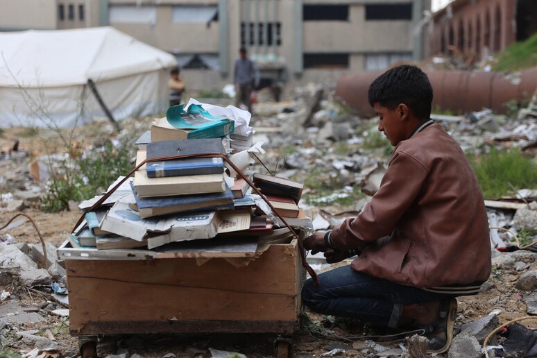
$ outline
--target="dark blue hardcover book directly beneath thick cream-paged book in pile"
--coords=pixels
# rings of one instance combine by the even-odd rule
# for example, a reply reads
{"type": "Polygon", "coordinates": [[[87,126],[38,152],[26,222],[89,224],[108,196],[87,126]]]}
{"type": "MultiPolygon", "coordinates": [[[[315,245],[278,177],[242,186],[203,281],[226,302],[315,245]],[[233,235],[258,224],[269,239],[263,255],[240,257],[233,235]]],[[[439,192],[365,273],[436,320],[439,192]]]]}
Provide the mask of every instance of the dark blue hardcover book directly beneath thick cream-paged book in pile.
{"type": "MultiPolygon", "coordinates": [[[[132,183],[131,187],[133,187],[132,183]]],[[[225,185],[225,191],[221,193],[141,198],[133,187],[133,194],[142,219],[180,212],[232,210],[235,208],[233,194],[227,185],[225,185]]]]}

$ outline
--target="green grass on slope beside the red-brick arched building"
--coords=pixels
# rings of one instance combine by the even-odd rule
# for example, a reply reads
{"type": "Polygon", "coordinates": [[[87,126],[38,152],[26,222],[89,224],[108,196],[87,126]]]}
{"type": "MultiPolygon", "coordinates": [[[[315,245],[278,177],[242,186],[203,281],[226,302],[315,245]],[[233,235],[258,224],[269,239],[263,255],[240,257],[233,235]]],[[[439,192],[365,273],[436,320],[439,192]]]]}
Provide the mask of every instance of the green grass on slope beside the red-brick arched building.
{"type": "Polygon", "coordinates": [[[537,33],[523,42],[514,42],[496,56],[494,71],[518,71],[537,66],[537,33]]]}

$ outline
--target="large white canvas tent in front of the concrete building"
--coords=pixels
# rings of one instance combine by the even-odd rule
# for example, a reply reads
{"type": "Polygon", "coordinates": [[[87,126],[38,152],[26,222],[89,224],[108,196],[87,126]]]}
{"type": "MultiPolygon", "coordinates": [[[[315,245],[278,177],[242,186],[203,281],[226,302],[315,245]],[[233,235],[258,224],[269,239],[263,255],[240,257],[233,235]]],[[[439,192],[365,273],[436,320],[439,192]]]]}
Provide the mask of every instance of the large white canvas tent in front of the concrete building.
{"type": "Polygon", "coordinates": [[[88,123],[165,112],[169,53],[112,27],[0,33],[0,127],[88,123]]]}

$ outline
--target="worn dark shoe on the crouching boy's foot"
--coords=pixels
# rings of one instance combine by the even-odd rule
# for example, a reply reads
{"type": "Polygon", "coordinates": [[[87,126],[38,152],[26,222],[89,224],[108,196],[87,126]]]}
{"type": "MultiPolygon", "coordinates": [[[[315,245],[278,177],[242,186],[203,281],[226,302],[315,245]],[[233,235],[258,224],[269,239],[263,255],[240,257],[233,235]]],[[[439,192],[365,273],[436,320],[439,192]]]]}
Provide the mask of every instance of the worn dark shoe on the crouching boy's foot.
{"type": "Polygon", "coordinates": [[[441,354],[450,349],[455,318],[457,318],[457,299],[441,301],[440,310],[434,321],[420,327],[425,330],[424,336],[429,339],[427,353],[441,354]]]}

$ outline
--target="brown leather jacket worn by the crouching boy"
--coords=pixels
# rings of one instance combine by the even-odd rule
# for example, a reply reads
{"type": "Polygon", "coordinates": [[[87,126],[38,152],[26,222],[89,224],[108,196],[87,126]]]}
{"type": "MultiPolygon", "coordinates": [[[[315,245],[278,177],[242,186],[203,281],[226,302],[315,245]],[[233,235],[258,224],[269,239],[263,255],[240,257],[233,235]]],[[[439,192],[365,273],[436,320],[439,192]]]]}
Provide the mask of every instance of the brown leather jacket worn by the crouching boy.
{"type": "Polygon", "coordinates": [[[414,287],[486,281],[488,219],[477,178],[438,124],[398,144],[380,189],[332,230],[335,248],[361,248],[352,269],[414,287]]]}

